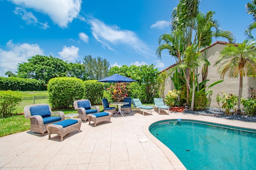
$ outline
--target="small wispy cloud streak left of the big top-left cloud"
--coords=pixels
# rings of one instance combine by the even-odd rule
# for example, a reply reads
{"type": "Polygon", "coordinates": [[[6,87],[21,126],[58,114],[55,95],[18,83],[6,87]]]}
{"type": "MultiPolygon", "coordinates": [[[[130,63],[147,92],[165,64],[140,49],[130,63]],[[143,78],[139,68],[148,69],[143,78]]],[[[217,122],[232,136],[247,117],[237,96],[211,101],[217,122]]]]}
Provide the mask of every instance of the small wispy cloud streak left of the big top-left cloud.
{"type": "Polygon", "coordinates": [[[40,25],[41,29],[47,29],[50,27],[47,22],[45,23],[38,22],[38,19],[32,14],[32,12],[27,12],[23,8],[16,6],[13,12],[16,15],[21,16],[22,20],[24,20],[27,25],[30,25],[30,24],[40,25]]]}

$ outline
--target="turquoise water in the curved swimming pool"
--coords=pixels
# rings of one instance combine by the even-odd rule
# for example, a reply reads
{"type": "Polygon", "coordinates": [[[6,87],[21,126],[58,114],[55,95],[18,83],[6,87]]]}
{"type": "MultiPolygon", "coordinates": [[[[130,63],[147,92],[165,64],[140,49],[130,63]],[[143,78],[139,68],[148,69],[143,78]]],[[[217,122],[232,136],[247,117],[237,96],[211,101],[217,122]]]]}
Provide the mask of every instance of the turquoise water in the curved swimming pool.
{"type": "Polygon", "coordinates": [[[192,120],[159,121],[149,130],[188,170],[256,169],[254,130],[192,120]]]}

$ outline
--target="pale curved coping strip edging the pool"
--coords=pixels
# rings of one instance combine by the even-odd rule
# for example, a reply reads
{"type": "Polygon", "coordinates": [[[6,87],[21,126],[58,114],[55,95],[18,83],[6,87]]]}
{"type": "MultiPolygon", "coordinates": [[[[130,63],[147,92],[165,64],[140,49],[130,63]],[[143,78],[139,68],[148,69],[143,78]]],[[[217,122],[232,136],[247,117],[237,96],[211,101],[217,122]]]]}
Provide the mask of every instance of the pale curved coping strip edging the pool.
{"type": "MultiPolygon", "coordinates": [[[[154,135],[152,135],[149,131],[150,125],[153,123],[156,123],[158,121],[163,120],[169,120],[172,119],[170,117],[165,118],[158,118],[151,121],[146,122],[142,129],[145,135],[158,146],[162,152],[166,155],[172,166],[175,170],[186,170],[186,167],[182,164],[182,162],[179,160],[179,158],[170,150],[166,145],[164,145],[161,141],[159,141],[154,135]]],[[[188,119],[188,120],[194,120],[194,121],[204,121],[208,123],[218,123],[221,125],[226,126],[233,126],[233,127],[239,127],[239,128],[245,128],[245,129],[255,129],[256,130],[256,123],[253,122],[244,122],[244,121],[238,121],[238,120],[231,120],[231,119],[224,119],[224,118],[218,118],[218,117],[210,117],[210,116],[204,116],[204,115],[194,115],[194,114],[187,114],[182,113],[182,115],[179,115],[179,117],[176,117],[174,119],[188,119]]]]}

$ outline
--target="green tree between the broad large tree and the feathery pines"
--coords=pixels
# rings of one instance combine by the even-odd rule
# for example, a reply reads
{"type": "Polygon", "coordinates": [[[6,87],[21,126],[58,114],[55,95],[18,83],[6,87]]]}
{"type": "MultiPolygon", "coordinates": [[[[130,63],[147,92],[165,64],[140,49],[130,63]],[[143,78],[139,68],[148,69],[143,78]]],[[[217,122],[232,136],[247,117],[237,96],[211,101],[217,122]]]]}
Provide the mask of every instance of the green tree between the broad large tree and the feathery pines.
{"type": "Polygon", "coordinates": [[[81,63],[69,63],[68,64],[68,77],[76,77],[80,78],[81,80],[88,80],[87,73],[84,69],[84,64],[81,63]]]}

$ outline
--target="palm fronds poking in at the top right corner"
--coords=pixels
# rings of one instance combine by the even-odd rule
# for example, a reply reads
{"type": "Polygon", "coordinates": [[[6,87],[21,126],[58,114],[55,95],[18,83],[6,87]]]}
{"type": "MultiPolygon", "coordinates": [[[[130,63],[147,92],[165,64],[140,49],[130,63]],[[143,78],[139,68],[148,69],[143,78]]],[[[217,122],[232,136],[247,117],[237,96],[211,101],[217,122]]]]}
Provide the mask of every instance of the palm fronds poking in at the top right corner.
{"type": "Polygon", "coordinates": [[[256,28],[256,0],[252,0],[251,3],[248,2],[248,4],[245,5],[245,8],[248,14],[252,14],[253,22],[247,25],[244,34],[248,37],[248,39],[253,39],[252,29],[256,28]]]}

